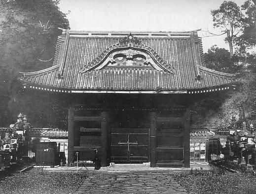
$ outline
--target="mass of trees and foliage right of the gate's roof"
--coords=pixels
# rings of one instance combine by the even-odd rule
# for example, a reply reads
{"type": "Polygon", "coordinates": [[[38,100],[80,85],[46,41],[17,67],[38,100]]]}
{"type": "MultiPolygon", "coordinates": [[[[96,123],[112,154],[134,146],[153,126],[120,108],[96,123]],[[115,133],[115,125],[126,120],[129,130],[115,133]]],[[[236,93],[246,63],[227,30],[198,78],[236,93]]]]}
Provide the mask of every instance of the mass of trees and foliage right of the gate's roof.
{"type": "MultiPolygon", "coordinates": [[[[247,0],[240,8],[232,1],[224,1],[219,9],[213,10],[214,25],[226,32],[230,52],[233,45],[237,50],[232,58],[224,48],[212,46],[204,54],[206,66],[227,73],[240,73],[240,81],[235,83],[236,90],[213,111],[203,117],[202,123],[208,127],[227,127],[231,119],[241,120],[241,111],[249,123],[255,125],[256,115],[256,55],[248,49],[256,45],[256,0],[247,0]],[[233,28],[233,30],[232,30],[233,28]],[[208,121],[207,121],[208,120],[208,121]]],[[[232,54],[231,54],[232,56],[232,54]]],[[[243,118],[242,120],[244,120],[243,118]]]]}

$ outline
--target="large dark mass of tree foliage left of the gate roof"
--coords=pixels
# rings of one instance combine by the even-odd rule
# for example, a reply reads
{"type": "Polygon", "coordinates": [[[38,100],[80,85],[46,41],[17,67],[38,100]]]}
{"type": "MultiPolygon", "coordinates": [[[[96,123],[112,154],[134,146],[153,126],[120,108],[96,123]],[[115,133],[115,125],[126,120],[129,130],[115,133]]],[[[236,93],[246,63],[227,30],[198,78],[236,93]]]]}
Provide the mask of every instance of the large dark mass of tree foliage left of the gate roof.
{"type": "Polygon", "coordinates": [[[8,126],[24,109],[34,110],[28,115],[32,118],[41,117],[40,111],[47,112],[46,106],[35,108],[47,95],[41,96],[42,101],[23,95],[17,80],[20,71],[52,65],[55,42],[61,35],[58,27],[69,29],[69,21],[57,4],[58,0],[0,1],[0,126],[8,126]]]}

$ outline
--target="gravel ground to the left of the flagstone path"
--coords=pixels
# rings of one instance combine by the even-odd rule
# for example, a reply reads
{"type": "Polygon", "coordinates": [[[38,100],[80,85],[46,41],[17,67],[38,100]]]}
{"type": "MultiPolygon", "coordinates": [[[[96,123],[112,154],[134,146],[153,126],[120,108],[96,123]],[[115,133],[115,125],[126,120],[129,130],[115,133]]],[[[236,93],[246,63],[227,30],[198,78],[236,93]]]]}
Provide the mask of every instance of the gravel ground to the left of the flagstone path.
{"type": "Polygon", "coordinates": [[[0,194],[73,194],[86,174],[25,172],[0,179],[0,194]]]}

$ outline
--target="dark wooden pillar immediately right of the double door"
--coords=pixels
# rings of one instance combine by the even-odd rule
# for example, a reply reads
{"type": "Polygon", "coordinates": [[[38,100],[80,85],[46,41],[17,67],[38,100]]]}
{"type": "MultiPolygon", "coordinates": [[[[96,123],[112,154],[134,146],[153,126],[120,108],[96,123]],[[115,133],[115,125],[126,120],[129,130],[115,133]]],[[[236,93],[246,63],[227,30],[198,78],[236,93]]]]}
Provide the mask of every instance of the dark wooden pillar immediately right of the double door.
{"type": "Polygon", "coordinates": [[[157,133],[156,133],[156,112],[150,114],[150,138],[149,138],[149,149],[150,149],[150,167],[156,167],[157,160],[157,133]]]}

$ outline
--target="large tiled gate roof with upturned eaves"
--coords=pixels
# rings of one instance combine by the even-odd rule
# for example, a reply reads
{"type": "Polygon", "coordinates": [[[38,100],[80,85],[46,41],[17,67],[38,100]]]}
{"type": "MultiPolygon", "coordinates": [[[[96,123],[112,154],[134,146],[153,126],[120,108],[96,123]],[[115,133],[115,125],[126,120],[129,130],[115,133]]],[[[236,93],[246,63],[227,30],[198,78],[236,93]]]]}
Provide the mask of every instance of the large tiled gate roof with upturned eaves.
{"type": "Polygon", "coordinates": [[[236,81],[235,74],[204,67],[197,31],[136,32],[132,33],[134,42],[124,39],[128,34],[64,31],[53,66],[22,73],[25,87],[57,92],[188,93],[236,81]],[[128,49],[144,52],[156,65],[101,66],[113,52],[128,49]]]}

